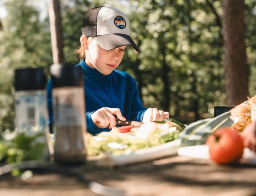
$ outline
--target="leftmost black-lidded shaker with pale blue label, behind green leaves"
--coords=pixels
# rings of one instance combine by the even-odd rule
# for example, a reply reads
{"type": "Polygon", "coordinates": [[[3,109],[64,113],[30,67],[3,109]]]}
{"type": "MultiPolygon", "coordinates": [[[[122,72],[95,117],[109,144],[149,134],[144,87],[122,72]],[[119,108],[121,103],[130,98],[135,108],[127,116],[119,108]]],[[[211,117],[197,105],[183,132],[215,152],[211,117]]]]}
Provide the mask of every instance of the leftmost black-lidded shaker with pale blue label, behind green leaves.
{"type": "Polygon", "coordinates": [[[46,125],[46,74],[42,68],[16,69],[14,72],[15,87],[15,126],[17,134],[25,133],[27,136],[35,136],[44,133],[36,139],[36,142],[45,144],[45,152],[42,157],[48,160],[53,153],[53,147],[49,142],[49,129],[46,125]]]}

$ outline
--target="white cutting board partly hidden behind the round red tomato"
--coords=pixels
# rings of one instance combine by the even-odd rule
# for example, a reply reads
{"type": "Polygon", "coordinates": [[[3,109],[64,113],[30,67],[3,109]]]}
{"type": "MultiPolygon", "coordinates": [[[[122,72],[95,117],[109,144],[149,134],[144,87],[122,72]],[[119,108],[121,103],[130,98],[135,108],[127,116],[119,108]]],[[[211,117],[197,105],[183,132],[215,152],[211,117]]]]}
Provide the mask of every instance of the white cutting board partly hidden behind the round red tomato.
{"type": "MultiPolygon", "coordinates": [[[[198,159],[210,159],[208,145],[193,145],[181,147],[178,149],[178,155],[198,159]]],[[[250,149],[244,149],[242,158],[239,160],[242,164],[256,165],[256,153],[250,149]]]]}

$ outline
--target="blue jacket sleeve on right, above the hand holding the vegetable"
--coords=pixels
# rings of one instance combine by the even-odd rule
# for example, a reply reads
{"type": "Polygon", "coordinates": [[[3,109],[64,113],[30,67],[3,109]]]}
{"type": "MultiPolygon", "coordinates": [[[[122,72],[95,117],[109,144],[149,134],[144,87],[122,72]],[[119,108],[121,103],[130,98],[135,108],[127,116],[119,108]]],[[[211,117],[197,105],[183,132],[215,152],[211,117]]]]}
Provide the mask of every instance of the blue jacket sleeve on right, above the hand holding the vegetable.
{"type": "Polygon", "coordinates": [[[131,119],[133,121],[140,121],[142,122],[143,115],[145,111],[148,109],[144,107],[142,101],[139,98],[139,90],[134,78],[132,78],[132,85],[133,85],[133,97],[131,101],[131,119]]]}

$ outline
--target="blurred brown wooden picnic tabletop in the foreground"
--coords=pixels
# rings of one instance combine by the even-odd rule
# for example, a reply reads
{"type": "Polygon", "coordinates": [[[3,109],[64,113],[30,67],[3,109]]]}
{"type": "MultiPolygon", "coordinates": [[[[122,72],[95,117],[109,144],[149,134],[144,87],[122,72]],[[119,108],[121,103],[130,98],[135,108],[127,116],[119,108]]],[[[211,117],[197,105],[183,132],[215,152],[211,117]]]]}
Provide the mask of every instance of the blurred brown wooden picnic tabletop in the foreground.
{"type": "MultiPolygon", "coordinates": [[[[209,160],[172,156],[113,168],[97,166],[89,160],[85,165],[69,169],[89,181],[125,191],[116,195],[256,195],[256,166],[253,165],[217,165],[209,160]]],[[[96,186],[96,190],[100,188],[96,186]]],[[[35,170],[33,177],[26,181],[9,174],[0,176],[0,195],[98,194],[72,175],[35,170]]]]}

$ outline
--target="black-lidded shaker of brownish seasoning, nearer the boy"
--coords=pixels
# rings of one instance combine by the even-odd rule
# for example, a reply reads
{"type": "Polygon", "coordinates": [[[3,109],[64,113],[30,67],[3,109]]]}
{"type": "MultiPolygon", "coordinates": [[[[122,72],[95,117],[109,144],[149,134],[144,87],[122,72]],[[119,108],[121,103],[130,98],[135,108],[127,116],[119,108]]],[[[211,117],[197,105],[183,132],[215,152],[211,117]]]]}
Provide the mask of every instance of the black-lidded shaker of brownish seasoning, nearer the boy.
{"type": "Polygon", "coordinates": [[[81,67],[53,64],[54,158],[61,164],[86,162],[84,79],[81,67]]]}

